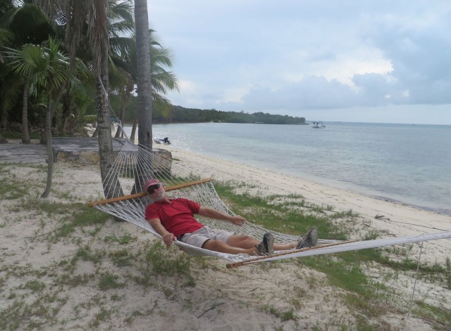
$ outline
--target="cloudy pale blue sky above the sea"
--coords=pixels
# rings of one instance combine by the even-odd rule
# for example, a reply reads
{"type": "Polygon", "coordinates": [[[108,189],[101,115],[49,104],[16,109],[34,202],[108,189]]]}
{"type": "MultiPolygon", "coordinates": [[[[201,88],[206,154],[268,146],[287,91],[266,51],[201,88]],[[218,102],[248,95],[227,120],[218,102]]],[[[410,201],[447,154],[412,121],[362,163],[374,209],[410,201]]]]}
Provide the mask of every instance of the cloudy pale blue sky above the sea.
{"type": "Polygon", "coordinates": [[[449,0],[148,0],[186,108],[451,124],[449,0]]]}

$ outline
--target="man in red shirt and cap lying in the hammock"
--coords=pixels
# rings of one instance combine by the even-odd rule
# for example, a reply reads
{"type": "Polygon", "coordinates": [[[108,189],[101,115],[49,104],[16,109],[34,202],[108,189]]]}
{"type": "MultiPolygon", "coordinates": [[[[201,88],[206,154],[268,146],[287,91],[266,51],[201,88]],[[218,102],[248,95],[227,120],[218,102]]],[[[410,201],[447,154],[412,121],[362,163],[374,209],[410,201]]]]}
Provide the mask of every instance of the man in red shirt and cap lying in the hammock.
{"type": "Polygon", "coordinates": [[[153,200],[146,208],[145,218],[154,230],[163,237],[167,247],[171,246],[172,242],[180,240],[188,245],[216,252],[267,255],[273,254],[274,249],[300,249],[314,246],[318,242],[316,228],[311,228],[307,235],[299,238],[297,242],[284,245],[274,244],[271,233],[265,233],[263,240],[259,242],[249,235],[234,235],[228,231],[209,228],[194,219],[194,214],[211,219],[230,221],[236,226],[242,226],[246,219],[242,216],[231,216],[202,207],[197,202],[185,198],[169,199],[163,184],[156,179],[147,181],[144,190],[153,200]]]}

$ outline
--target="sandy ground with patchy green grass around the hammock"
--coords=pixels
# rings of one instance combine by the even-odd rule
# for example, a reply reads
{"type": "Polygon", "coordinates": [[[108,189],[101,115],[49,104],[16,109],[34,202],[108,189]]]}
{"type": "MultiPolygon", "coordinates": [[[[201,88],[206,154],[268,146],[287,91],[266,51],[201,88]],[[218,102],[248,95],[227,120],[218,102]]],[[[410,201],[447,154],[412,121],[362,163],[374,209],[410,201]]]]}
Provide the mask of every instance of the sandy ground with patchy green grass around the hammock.
{"type": "MultiPolygon", "coordinates": [[[[409,318],[449,330],[449,260],[421,261],[417,272],[407,245],[230,270],[87,207],[99,178],[77,175],[85,170],[59,165],[51,198],[40,200],[45,167],[0,164],[0,330],[206,330],[236,311],[246,312],[248,330],[407,330],[409,318]],[[71,176],[84,182],[69,188],[71,176]]],[[[317,226],[321,238],[340,240],[382,235],[352,210],[302,195],[265,195],[239,182],[216,188],[265,228],[302,234],[317,226]]]]}

